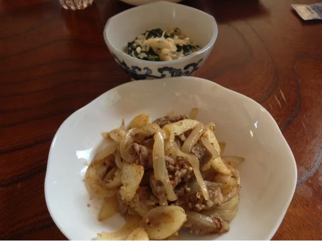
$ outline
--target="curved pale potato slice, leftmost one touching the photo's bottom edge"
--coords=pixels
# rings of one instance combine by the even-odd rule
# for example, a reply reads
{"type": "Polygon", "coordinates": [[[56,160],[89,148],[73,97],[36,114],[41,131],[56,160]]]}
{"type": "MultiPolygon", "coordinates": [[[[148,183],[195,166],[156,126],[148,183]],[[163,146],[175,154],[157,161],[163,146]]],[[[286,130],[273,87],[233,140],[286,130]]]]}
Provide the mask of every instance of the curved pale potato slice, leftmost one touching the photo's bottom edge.
{"type": "Polygon", "coordinates": [[[127,236],[139,227],[140,216],[128,215],[125,225],[121,230],[115,232],[101,232],[94,240],[126,240],[127,236]]]}

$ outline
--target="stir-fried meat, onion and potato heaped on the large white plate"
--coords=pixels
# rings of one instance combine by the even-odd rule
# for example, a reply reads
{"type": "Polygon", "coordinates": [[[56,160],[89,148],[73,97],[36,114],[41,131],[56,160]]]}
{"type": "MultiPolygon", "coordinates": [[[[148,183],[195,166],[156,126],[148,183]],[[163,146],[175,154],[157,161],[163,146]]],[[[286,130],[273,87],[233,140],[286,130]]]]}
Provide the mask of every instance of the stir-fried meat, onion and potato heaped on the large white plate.
{"type": "Polygon", "coordinates": [[[236,167],[244,158],[222,156],[225,143],[217,141],[215,124],[195,120],[197,113],[172,112],[153,122],[140,114],[128,128],[123,122],[102,133],[110,144],[87,169],[85,183],[91,195],[104,198],[100,221],[117,208],[127,223],[99,239],[160,240],[178,236],[182,227],[197,235],[229,230],[239,202],[236,167]]]}

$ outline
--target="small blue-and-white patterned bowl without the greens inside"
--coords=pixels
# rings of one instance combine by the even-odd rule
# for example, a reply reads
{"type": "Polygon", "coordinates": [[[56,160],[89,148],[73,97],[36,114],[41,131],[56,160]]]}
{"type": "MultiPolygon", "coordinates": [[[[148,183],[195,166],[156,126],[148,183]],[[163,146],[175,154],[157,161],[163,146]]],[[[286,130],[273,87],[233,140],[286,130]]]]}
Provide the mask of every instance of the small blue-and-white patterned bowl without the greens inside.
{"type": "Polygon", "coordinates": [[[192,75],[208,58],[218,34],[215,19],[197,9],[169,2],[156,2],[124,11],[110,18],[104,39],[116,62],[132,78],[152,79],[192,75]],[[201,50],[172,61],[153,62],[123,52],[127,42],[154,28],[179,27],[201,50]]]}

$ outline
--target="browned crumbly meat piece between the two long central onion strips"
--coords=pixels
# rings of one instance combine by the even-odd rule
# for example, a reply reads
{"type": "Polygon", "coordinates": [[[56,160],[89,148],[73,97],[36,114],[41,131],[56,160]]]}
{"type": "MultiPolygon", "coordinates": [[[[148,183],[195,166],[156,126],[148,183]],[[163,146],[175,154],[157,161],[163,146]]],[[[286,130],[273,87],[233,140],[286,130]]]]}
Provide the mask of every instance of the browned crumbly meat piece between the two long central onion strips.
{"type": "Polygon", "coordinates": [[[188,182],[193,174],[193,169],[185,158],[178,157],[175,161],[173,158],[166,156],[165,160],[173,187],[181,182],[188,182]]]}

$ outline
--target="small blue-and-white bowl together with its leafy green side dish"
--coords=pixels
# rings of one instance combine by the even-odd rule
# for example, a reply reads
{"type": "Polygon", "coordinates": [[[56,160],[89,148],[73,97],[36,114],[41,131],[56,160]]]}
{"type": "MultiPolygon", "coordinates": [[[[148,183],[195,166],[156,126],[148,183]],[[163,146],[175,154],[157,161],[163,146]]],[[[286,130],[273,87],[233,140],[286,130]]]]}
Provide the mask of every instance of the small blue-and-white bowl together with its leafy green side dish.
{"type": "Polygon", "coordinates": [[[116,62],[138,80],[194,74],[208,58],[218,29],[202,11],[160,1],[113,16],[103,34],[116,62]]]}

